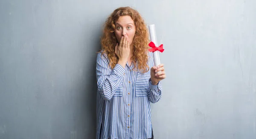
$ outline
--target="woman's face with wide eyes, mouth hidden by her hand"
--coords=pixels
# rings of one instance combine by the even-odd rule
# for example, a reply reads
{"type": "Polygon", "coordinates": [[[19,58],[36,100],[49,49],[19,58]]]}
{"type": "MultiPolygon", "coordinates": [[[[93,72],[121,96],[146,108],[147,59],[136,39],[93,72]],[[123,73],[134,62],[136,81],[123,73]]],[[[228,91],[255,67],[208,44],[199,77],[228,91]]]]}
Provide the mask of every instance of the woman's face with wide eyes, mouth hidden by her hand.
{"type": "Polygon", "coordinates": [[[130,45],[132,45],[135,35],[134,20],[132,20],[128,15],[120,16],[116,21],[115,26],[115,35],[118,43],[120,44],[121,37],[124,36],[128,38],[130,45]]]}

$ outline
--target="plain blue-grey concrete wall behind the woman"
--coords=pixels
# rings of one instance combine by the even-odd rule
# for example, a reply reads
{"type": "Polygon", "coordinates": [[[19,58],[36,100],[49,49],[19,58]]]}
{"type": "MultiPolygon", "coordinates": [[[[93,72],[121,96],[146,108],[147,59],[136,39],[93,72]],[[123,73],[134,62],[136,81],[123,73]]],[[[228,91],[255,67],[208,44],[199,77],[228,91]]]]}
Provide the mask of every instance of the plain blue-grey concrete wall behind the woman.
{"type": "Polygon", "coordinates": [[[165,51],[155,139],[256,139],[255,0],[0,0],[0,139],[94,139],[96,51],[119,6],[165,51]]]}

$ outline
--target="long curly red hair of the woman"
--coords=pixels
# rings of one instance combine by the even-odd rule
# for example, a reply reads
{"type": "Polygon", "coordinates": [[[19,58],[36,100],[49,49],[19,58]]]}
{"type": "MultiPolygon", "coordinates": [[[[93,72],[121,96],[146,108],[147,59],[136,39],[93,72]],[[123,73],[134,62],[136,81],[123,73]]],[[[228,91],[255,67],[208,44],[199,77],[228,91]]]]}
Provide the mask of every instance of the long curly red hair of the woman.
{"type": "Polygon", "coordinates": [[[131,57],[132,62],[138,70],[147,72],[149,70],[148,62],[148,30],[145,21],[141,17],[140,13],[132,9],[131,7],[119,7],[115,9],[112,14],[105,21],[105,28],[103,31],[103,37],[101,38],[102,51],[108,56],[109,65],[113,69],[118,62],[118,57],[115,54],[115,45],[117,43],[116,36],[114,34],[115,22],[120,16],[129,15],[134,20],[136,32],[133,40],[133,56],[131,57]]]}

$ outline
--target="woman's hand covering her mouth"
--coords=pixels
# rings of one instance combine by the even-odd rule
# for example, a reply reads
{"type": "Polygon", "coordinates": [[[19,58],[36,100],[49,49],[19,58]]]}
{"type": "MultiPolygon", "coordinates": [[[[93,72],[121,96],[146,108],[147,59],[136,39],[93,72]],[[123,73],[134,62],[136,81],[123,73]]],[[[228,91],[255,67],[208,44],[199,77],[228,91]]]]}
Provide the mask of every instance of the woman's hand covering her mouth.
{"type": "Polygon", "coordinates": [[[130,45],[127,37],[122,37],[120,40],[120,44],[116,43],[115,53],[118,57],[117,64],[122,65],[125,68],[126,62],[128,61],[128,57],[130,55],[130,45]]]}

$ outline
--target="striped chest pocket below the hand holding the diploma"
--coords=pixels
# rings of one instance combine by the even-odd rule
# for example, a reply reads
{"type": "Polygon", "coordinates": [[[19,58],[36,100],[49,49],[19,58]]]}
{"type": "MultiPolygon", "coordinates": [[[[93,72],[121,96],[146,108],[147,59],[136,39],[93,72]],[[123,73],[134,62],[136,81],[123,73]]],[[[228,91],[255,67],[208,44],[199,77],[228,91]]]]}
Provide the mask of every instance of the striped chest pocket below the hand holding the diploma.
{"type": "Polygon", "coordinates": [[[148,96],[148,80],[150,78],[150,73],[137,73],[137,78],[135,82],[135,94],[136,97],[148,96]]]}

